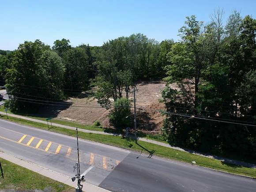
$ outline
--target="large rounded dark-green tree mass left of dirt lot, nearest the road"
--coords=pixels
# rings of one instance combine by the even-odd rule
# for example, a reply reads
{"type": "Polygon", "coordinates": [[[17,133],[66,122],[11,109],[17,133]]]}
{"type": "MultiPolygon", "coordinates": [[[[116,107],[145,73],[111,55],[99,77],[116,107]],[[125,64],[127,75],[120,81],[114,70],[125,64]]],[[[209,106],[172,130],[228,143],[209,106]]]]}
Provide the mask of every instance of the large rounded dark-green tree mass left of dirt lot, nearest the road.
{"type": "Polygon", "coordinates": [[[63,72],[60,57],[48,45],[39,40],[20,44],[6,74],[8,92],[13,95],[9,103],[11,110],[35,111],[41,106],[26,98],[61,99],[58,80],[63,77],[63,72]]]}

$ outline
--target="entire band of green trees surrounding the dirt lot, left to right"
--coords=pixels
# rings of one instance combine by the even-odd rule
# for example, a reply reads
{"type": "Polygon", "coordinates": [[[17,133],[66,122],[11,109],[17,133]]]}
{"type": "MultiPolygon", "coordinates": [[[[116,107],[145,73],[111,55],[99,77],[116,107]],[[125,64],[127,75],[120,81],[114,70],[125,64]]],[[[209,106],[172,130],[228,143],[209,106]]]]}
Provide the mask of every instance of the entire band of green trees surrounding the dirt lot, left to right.
{"type": "Polygon", "coordinates": [[[238,11],[226,23],[222,17],[221,9],[209,23],[187,17],[177,42],[143,34],[102,46],[25,41],[0,52],[0,82],[14,96],[8,106],[36,110],[41,105],[19,98],[56,101],[95,86],[98,103],[113,108],[110,121],[124,128],[131,125],[130,89],[139,79],[164,79],[162,134],[169,143],[256,157],[256,19],[238,11]]]}

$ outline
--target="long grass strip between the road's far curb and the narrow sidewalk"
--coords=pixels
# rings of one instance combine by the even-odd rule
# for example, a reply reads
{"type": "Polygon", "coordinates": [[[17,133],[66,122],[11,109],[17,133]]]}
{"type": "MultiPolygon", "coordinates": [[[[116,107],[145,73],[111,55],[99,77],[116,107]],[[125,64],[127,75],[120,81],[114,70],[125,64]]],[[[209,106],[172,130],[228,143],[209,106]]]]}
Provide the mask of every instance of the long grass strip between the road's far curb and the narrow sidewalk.
{"type": "MultiPolygon", "coordinates": [[[[6,119],[6,116],[2,116],[1,118],[6,119]]],[[[15,117],[9,117],[8,120],[25,124],[28,126],[48,130],[51,132],[62,133],[68,136],[76,135],[75,131],[73,130],[55,127],[55,126],[51,129],[48,129],[47,125],[33,122],[30,120],[23,120],[15,117]]],[[[84,133],[84,132],[79,132],[79,138],[96,141],[100,143],[105,143],[105,144],[109,144],[117,147],[132,149],[132,150],[143,152],[143,153],[148,153],[148,154],[152,153],[153,155],[157,155],[159,157],[174,159],[177,161],[186,162],[190,164],[193,164],[192,161],[195,161],[196,165],[198,166],[203,166],[207,168],[226,171],[229,173],[236,173],[236,174],[241,174],[241,175],[246,175],[246,176],[256,178],[256,169],[228,164],[216,159],[206,158],[200,155],[190,154],[187,152],[174,150],[168,147],[162,147],[159,145],[155,145],[153,143],[147,143],[143,141],[138,141],[137,142],[138,144],[136,144],[134,141],[129,141],[128,143],[126,143],[125,139],[122,139],[120,136],[108,136],[108,135],[100,135],[100,134],[92,134],[92,133],[84,133]]]]}

